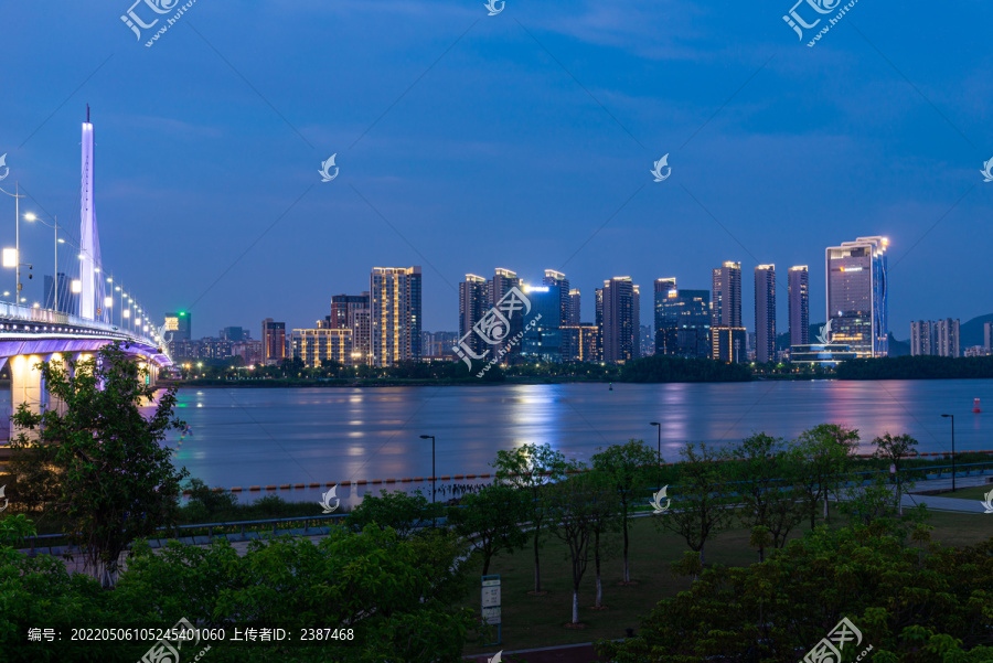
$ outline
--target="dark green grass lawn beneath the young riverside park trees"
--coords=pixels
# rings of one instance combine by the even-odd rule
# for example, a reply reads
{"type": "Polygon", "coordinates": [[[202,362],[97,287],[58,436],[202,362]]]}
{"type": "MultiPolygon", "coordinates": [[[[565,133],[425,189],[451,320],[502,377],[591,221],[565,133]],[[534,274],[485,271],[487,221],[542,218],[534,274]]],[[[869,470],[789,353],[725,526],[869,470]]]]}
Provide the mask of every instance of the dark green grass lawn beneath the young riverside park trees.
{"type": "MultiPolygon", "coordinates": [[[[832,516],[832,520],[840,522],[837,516],[832,516]]],[[[982,514],[936,512],[928,523],[935,527],[932,541],[948,546],[970,545],[993,536],[993,517],[982,514]]],[[[802,536],[807,530],[807,525],[801,525],[794,536],[802,536]]],[[[534,589],[534,553],[531,547],[513,555],[494,557],[489,573],[499,574],[502,581],[502,643],[485,648],[470,645],[463,653],[470,655],[623,638],[626,628],[632,628],[637,633],[641,619],[651,612],[659,600],[690,587],[688,578],[674,578],[670,571],[670,563],[679,559],[688,548],[685,541],[676,535],[656,531],[648,517],[631,521],[629,533],[631,579],[637,580],[638,585],[618,586],[623,573],[620,556],[605,562],[604,603],[609,609],[591,610],[596,599],[596,576],[590,560],[579,590],[579,620],[587,624],[585,629],[565,628],[572,620],[573,591],[570,565],[562,543],[546,537],[541,552],[542,589],[548,592],[545,596],[527,594],[534,589]]],[[[744,566],[758,562],[758,553],[748,547],[748,532],[743,528],[717,535],[705,549],[705,556],[707,564],[744,566]]],[[[481,573],[480,564],[473,574],[481,573]]],[[[462,605],[479,612],[479,590],[473,590],[462,605]]]]}

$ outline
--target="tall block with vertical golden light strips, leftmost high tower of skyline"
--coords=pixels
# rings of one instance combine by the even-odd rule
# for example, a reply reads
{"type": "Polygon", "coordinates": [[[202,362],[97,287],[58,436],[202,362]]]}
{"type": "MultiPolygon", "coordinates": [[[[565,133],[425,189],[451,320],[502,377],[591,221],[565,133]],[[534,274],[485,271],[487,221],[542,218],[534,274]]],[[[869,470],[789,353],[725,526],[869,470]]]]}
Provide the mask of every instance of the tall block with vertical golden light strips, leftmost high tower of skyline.
{"type": "Polygon", "coordinates": [[[373,267],[370,275],[373,366],[420,360],[420,266],[373,267]]]}

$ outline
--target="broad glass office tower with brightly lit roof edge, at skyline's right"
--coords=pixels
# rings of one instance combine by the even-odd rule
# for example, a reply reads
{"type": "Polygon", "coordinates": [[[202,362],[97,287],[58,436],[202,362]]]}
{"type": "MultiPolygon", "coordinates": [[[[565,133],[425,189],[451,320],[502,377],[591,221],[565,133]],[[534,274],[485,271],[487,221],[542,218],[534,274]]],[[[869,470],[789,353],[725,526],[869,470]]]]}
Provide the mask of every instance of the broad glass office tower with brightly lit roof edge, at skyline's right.
{"type": "Polygon", "coordinates": [[[858,237],[825,252],[831,342],[848,345],[859,359],[888,353],[888,245],[885,237],[858,237]]]}

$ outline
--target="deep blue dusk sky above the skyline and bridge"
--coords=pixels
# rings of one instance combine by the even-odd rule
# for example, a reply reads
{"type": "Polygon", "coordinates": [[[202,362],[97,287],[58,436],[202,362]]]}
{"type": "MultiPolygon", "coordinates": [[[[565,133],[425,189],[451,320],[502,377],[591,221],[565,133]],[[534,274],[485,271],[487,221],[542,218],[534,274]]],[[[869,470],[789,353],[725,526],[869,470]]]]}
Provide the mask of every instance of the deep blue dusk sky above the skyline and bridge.
{"type": "MultiPolygon", "coordinates": [[[[808,47],[791,7],[197,0],[146,47],[171,14],[139,42],[128,0],[4,2],[0,186],[77,236],[88,103],[104,263],[197,336],[309,325],[373,266],[423,265],[424,328],[456,330],[466,272],[560,269],[591,319],[604,279],[709,288],[729,259],[749,328],[751,270],[776,264],[786,331],[786,270],[810,266],[823,320],[824,247],[864,235],[890,238],[897,338],[993,311],[993,8],[862,0],[808,47]]],[[[22,245],[50,274],[51,231],[22,245]]]]}

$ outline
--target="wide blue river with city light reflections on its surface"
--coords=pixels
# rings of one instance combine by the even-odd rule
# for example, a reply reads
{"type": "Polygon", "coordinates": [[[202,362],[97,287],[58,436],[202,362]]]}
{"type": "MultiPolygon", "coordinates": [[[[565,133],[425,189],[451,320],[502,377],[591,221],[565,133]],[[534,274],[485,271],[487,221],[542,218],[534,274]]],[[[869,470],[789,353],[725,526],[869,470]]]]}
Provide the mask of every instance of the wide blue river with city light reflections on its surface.
{"type": "MultiPolygon", "coordinates": [[[[192,429],[178,464],[210,485],[323,484],[397,480],[365,489],[340,486],[348,504],[360,491],[421,488],[436,436],[439,475],[492,473],[499,449],[549,443],[589,460],[598,447],[643,439],[672,461],[687,441],[728,445],[755,431],[794,438],[821,423],[857,428],[865,445],[886,431],[908,432],[921,451],[993,449],[993,381],[754,382],[741,384],[506,385],[479,387],[181,389],[177,414],[192,429]],[[973,415],[972,399],[990,408],[973,415]]],[[[179,432],[172,435],[175,445],[179,432]]],[[[869,449],[864,449],[868,451],[869,449]]],[[[465,481],[463,481],[465,482],[465,481]]],[[[439,482],[439,485],[441,483],[439,482]]],[[[243,493],[242,500],[259,493],[243,493]]],[[[265,491],[261,491],[265,494],[265,491]]],[[[277,491],[319,499],[319,490],[277,491]],[[312,494],[311,494],[312,493],[312,494]]]]}

